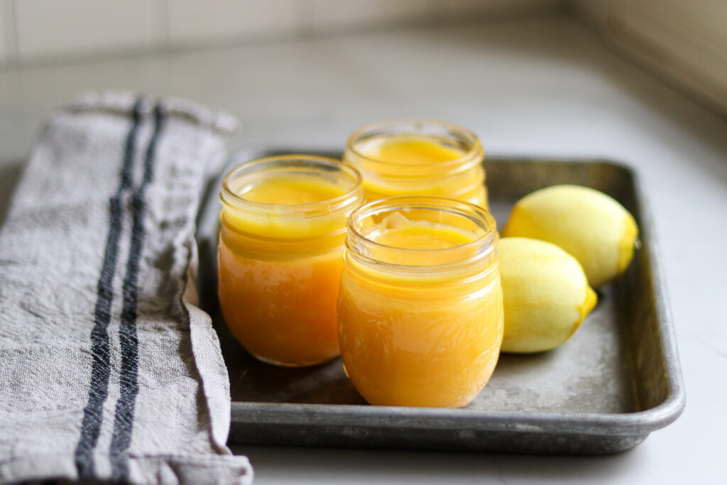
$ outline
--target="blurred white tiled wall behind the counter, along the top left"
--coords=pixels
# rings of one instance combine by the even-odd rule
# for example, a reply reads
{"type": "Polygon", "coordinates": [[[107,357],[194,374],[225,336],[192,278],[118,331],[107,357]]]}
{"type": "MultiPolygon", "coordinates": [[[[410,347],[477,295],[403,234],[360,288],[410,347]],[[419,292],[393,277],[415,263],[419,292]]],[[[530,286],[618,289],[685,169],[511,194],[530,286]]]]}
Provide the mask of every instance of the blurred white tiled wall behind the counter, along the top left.
{"type": "Polygon", "coordinates": [[[564,0],[0,0],[0,65],[556,10],[564,0]]]}

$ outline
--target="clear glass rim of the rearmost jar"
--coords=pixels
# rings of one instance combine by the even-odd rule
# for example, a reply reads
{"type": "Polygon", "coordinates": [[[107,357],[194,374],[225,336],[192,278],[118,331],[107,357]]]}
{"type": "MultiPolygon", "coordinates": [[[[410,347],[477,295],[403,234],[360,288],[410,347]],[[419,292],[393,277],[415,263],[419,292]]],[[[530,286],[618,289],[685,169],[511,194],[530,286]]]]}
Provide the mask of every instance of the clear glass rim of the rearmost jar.
{"type": "Polygon", "coordinates": [[[437,119],[419,119],[419,118],[401,118],[401,119],[390,119],[385,121],[376,121],[374,123],[365,124],[363,127],[357,129],[355,132],[353,132],[349,137],[348,140],[346,140],[346,149],[353,153],[354,155],[358,156],[361,159],[366,160],[369,163],[372,164],[380,164],[385,167],[413,167],[413,168],[420,168],[420,167],[432,167],[435,165],[436,167],[449,167],[449,166],[459,166],[462,164],[465,164],[467,161],[470,161],[470,159],[478,157],[480,154],[483,156],[484,151],[482,148],[482,144],[480,142],[480,139],[475,133],[467,129],[465,127],[462,127],[458,124],[450,123],[449,121],[440,121],[437,119]],[[408,130],[402,130],[401,132],[393,133],[394,135],[428,135],[425,132],[422,132],[421,134],[417,133],[417,127],[421,129],[421,127],[425,126],[430,127],[438,127],[445,130],[445,132],[448,133],[457,133],[457,135],[461,135],[462,137],[465,137],[467,141],[470,142],[470,148],[462,154],[462,156],[458,157],[457,159],[451,159],[451,160],[445,160],[438,162],[436,164],[402,164],[398,163],[396,161],[385,161],[380,159],[374,159],[370,156],[367,156],[366,153],[362,153],[356,148],[356,142],[361,139],[366,133],[368,132],[375,132],[380,129],[386,129],[390,127],[397,127],[397,126],[409,126],[414,127],[414,129],[408,129],[408,130]]]}

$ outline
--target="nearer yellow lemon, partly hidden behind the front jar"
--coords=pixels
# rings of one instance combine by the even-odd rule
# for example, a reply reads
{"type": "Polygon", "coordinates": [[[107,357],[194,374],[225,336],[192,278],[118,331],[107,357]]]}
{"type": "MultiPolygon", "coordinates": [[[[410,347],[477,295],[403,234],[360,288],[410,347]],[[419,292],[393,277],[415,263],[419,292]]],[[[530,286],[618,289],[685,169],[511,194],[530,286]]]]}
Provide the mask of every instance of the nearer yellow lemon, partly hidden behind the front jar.
{"type": "Polygon", "coordinates": [[[555,244],[502,238],[497,248],[505,308],[504,352],[539,352],[568,340],[597,297],[579,262],[555,244]]]}

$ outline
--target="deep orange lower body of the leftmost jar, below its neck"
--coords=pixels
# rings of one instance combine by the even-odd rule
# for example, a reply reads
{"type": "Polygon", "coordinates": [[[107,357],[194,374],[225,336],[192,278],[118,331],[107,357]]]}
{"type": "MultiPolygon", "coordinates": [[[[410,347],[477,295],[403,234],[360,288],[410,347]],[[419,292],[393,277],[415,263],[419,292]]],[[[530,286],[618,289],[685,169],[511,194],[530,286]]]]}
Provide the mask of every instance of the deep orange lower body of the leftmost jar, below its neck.
{"type": "Polygon", "coordinates": [[[342,252],[258,260],[234,253],[223,240],[217,291],[233,337],[258,360],[277,366],[312,366],[338,356],[342,252]]]}

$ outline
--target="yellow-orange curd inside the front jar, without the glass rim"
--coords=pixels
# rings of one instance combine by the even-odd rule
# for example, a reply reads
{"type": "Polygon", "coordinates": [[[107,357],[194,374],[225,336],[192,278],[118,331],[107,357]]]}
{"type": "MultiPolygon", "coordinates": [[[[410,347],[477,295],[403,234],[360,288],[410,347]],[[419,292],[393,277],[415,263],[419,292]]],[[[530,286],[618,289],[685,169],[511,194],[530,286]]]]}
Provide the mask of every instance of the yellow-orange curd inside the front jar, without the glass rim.
{"type": "MultiPolygon", "coordinates": [[[[453,248],[473,234],[387,216],[366,238],[387,246],[453,248]]],[[[345,369],[370,404],[465,406],[491,376],[502,343],[502,289],[494,260],[416,276],[346,256],[339,299],[345,369]]],[[[408,259],[408,257],[407,257],[408,259]]]]}

